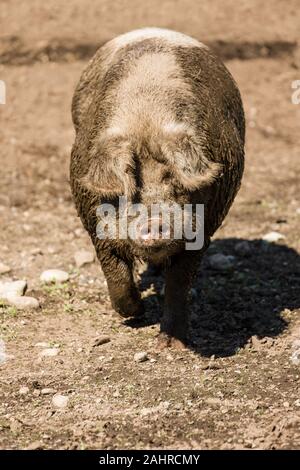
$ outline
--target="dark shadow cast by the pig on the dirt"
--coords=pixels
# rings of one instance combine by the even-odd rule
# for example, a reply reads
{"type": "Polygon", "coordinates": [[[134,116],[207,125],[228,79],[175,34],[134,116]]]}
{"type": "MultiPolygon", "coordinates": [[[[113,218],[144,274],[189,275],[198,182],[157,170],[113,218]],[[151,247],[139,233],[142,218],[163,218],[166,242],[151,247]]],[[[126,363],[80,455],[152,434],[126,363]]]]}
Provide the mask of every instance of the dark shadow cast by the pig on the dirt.
{"type": "MultiPolygon", "coordinates": [[[[142,288],[151,284],[159,292],[163,277],[145,272],[142,288]]],[[[262,240],[216,240],[203,259],[192,294],[190,349],[202,356],[233,355],[253,335],[276,337],[284,331],[282,311],[300,307],[300,257],[285,245],[262,240]],[[236,252],[242,241],[247,241],[248,254],[236,252]],[[211,269],[208,259],[214,253],[235,256],[234,269],[211,269]]],[[[159,296],[148,296],[145,304],[145,317],[127,321],[128,326],[141,328],[159,322],[159,296]]]]}

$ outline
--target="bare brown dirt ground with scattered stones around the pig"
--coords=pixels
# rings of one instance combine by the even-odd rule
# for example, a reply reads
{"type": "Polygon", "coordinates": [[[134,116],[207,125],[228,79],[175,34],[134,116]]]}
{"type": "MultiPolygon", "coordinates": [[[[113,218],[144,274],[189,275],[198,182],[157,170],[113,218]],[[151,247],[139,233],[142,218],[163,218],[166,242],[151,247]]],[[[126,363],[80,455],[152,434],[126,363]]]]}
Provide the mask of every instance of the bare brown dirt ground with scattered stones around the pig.
{"type": "Polygon", "coordinates": [[[298,0],[1,1],[0,261],[11,272],[0,280],[26,279],[41,304],[0,306],[2,449],[300,449],[299,25],[298,0]],[[68,183],[74,86],[99,45],[146,25],[210,44],[247,118],[243,185],[203,262],[180,352],[155,347],[160,278],[143,281],[146,317],[126,322],[98,263],[74,262],[92,249],[68,183]],[[271,231],[285,238],[263,241],[271,231]],[[234,269],[213,271],[212,253],[235,256],[234,269]],[[70,281],[43,285],[50,268],[70,281]],[[58,354],[42,357],[41,342],[58,354]],[[137,363],[141,351],[149,360],[137,363]]]}

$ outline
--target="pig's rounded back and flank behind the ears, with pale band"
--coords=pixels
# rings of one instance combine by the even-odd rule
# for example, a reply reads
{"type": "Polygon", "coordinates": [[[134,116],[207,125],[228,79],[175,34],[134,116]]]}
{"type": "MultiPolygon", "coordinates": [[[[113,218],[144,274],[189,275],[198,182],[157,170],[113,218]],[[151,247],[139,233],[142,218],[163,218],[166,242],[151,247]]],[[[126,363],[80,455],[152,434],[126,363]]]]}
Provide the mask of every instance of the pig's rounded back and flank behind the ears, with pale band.
{"type": "Polygon", "coordinates": [[[156,28],[118,36],[83,72],[72,115],[81,149],[107,128],[155,133],[170,122],[191,126],[205,156],[224,168],[206,219],[210,234],[220,225],[243,173],[245,123],[232,76],[202,43],[156,28]]]}

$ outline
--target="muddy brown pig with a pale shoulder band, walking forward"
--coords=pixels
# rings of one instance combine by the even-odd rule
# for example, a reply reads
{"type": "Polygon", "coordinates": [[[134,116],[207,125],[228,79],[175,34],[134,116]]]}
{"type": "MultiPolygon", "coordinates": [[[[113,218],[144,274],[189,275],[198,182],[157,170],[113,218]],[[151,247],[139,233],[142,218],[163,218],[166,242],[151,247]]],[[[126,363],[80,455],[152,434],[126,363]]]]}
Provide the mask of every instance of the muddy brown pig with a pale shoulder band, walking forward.
{"type": "MultiPolygon", "coordinates": [[[[135,260],[163,266],[158,344],[186,347],[189,291],[243,175],[245,119],[238,87],[198,40],[144,28],[99,48],[76,87],[72,118],[71,189],[112,307],[122,317],[142,315],[135,260]],[[187,250],[172,235],[151,238],[144,228],[135,239],[97,236],[99,204],[118,211],[119,197],[145,207],[203,205],[201,248],[187,250]]],[[[156,225],[163,232],[160,219],[156,225]]]]}

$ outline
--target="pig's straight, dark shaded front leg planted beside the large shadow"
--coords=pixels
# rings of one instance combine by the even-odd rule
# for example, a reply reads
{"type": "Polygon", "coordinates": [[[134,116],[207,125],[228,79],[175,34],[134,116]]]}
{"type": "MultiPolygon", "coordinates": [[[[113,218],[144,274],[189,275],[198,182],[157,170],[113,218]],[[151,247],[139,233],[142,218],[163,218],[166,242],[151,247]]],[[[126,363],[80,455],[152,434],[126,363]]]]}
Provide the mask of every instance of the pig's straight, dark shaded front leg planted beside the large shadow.
{"type": "Polygon", "coordinates": [[[201,253],[184,251],[173,256],[166,269],[164,311],[158,348],[184,348],[189,323],[189,291],[197,273],[201,253]]]}

